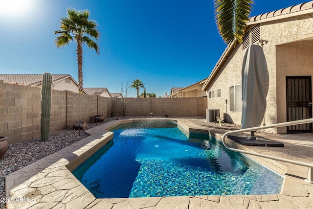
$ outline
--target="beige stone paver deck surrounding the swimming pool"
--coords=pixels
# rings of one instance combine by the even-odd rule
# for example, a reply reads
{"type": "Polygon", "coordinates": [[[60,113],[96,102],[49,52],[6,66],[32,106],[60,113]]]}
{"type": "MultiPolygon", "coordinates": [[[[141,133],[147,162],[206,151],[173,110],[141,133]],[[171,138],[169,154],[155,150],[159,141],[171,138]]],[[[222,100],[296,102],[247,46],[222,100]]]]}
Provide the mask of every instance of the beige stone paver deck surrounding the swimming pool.
{"type": "MultiPolygon", "coordinates": [[[[110,128],[122,122],[142,119],[114,120],[86,132],[89,137],[49,155],[5,177],[8,209],[280,209],[313,208],[313,184],[306,183],[308,168],[249,156],[285,175],[280,194],[181,196],[152,198],[96,199],[71,171],[113,137],[110,128]],[[40,193],[39,195],[36,194],[40,193]],[[29,197],[29,198],[25,198],[29,197]],[[36,196],[37,195],[37,196],[36,196]]],[[[224,130],[200,127],[187,119],[177,119],[187,132],[208,133],[221,140],[224,130]]],[[[258,134],[284,142],[284,147],[247,147],[230,139],[235,148],[313,163],[313,134],[258,134]]],[[[110,180],[109,180],[110,181],[110,180]]],[[[269,180],[270,181],[270,180],[269,180]]]]}

